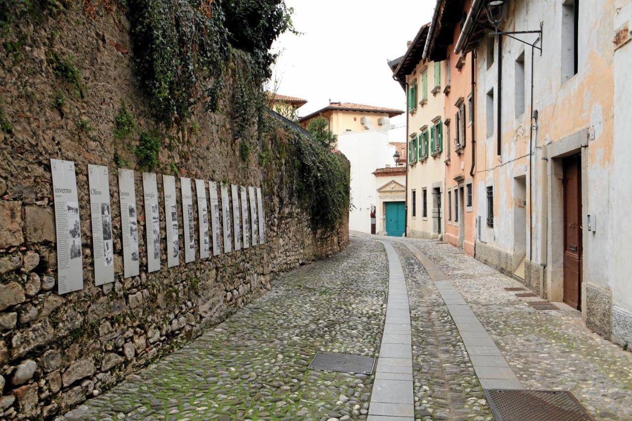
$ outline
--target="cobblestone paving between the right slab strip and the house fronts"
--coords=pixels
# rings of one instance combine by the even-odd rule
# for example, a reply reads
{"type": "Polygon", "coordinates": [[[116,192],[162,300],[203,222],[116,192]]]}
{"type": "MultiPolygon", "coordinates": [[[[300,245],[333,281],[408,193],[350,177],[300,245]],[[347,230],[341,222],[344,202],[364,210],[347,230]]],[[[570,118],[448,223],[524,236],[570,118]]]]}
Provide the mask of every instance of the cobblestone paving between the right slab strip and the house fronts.
{"type": "Polygon", "coordinates": [[[632,353],[563,310],[534,310],[522,286],[449,244],[407,239],[434,260],[477,314],[526,389],[569,390],[597,419],[632,420],[632,353]]]}

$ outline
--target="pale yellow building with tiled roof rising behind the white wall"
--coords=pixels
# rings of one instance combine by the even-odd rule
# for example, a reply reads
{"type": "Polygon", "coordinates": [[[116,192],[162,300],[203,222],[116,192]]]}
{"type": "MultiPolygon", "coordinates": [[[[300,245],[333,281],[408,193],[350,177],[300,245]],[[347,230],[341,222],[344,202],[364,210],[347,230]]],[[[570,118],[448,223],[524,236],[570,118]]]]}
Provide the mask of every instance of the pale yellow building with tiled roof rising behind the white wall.
{"type": "Polygon", "coordinates": [[[302,128],[307,129],[310,120],[323,116],[329,121],[329,130],[335,135],[346,131],[389,130],[389,119],[403,114],[404,111],[386,107],[375,107],[353,102],[330,102],[328,106],[308,114],[299,120],[302,128]]]}

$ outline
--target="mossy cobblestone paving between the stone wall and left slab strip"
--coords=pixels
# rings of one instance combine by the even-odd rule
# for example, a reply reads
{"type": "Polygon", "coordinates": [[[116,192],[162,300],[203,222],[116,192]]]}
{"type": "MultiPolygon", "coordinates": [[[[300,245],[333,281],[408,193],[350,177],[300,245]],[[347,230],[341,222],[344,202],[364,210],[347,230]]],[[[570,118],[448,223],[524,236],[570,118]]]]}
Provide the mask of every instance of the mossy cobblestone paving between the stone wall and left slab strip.
{"type": "Polygon", "coordinates": [[[384,246],[355,238],[185,348],[66,413],[81,419],[367,418],[374,376],[308,370],[315,353],[374,357],[388,285],[384,246]]]}

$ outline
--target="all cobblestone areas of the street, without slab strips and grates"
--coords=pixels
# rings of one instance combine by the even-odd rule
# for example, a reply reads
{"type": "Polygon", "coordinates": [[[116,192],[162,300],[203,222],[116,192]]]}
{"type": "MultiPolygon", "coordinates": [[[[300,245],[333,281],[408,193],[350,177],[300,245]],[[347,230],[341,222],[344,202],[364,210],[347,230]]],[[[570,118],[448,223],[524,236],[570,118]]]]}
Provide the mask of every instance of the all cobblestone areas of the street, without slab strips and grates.
{"type": "Polygon", "coordinates": [[[375,374],[307,369],[319,351],[378,357],[389,284],[379,239],[399,255],[408,289],[416,420],[493,417],[453,315],[406,242],[463,295],[523,387],[569,390],[597,419],[632,419],[632,353],[575,315],[532,310],[525,301],[541,299],[516,298],[504,288],[517,281],[451,245],[355,235],[343,252],[283,276],[268,295],[66,418],[411,419],[368,415],[375,374]]]}

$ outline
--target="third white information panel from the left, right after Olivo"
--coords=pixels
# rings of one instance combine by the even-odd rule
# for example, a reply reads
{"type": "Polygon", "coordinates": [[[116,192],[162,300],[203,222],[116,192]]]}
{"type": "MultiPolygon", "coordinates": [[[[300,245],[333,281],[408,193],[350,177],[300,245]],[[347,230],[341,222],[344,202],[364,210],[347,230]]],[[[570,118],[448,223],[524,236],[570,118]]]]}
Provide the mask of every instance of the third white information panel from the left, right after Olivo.
{"type": "Polygon", "coordinates": [[[119,197],[121,202],[121,234],[123,236],[123,278],[140,273],[138,254],[138,212],[134,171],[119,168],[119,197]]]}

